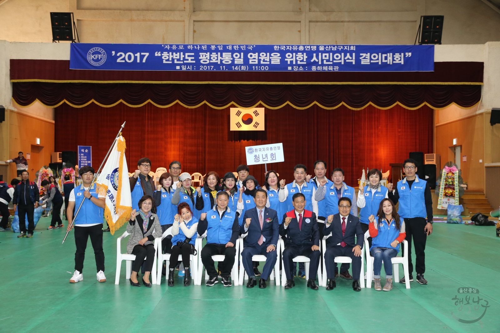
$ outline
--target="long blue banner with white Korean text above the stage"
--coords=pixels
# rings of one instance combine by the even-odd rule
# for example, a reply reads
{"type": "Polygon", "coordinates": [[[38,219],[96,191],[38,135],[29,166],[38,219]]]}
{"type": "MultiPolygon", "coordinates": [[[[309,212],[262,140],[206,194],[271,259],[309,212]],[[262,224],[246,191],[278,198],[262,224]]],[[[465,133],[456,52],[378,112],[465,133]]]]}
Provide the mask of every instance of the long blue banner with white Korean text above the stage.
{"type": "Polygon", "coordinates": [[[71,43],[70,69],[433,71],[434,45],[71,43]]]}

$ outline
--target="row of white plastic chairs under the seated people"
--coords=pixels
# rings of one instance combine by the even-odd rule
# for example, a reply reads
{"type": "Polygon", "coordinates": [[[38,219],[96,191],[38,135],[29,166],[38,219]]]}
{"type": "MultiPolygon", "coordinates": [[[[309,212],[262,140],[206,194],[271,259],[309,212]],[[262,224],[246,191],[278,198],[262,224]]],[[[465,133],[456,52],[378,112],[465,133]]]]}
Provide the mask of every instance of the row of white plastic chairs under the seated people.
{"type": "MultiPolygon", "coordinates": [[[[117,285],[119,283],[119,277],[120,277],[120,269],[121,269],[121,261],[125,260],[126,261],[126,271],[125,271],[125,279],[130,278],[130,273],[131,273],[131,263],[133,260],[135,260],[135,256],[131,254],[126,254],[126,253],[121,253],[121,240],[123,240],[126,236],[129,234],[125,231],[123,235],[118,237],[116,240],[116,277],[114,280],[114,284],[117,285]]],[[[162,254],[161,252],[161,241],[168,235],[171,235],[171,227],[168,228],[160,238],[156,238],[154,240],[154,250],[155,250],[155,256],[154,256],[154,262],[153,262],[153,268],[151,272],[151,280],[152,284],[157,284],[159,285],[161,283],[161,270],[163,267],[163,262],[166,261],[166,266],[168,267],[169,261],[170,261],[170,254],[165,253],[162,254]],[[157,258],[156,258],[157,257],[157,258]],[[156,260],[157,259],[157,260],[156,260]],[[157,266],[157,267],[156,267],[157,266]]],[[[246,237],[247,234],[241,235],[238,240],[236,241],[236,244],[234,246],[236,247],[236,254],[234,257],[234,264],[231,269],[231,278],[234,282],[235,286],[238,285],[243,285],[243,280],[248,279],[248,275],[245,272],[245,269],[242,264],[242,256],[241,253],[243,251],[243,239],[246,237]],[[238,272],[238,259],[239,259],[239,272],[238,272]]],[[[325,269],[325,260],[324,260],[324,252],[326,250],[326,239],[330,237],[331,235],[323,237],[323,240],[321,242],[321,251],[322,251],[322,256],[321,256],[321,262],[322,262],[322,267],[323,271],[321,272],[321,264],[318,265],[317,269],[317,276],[318,276],[318,284],[319,286],[326,287],[326,269],[325,269]]],[[[191,278],[194,283],[194,285],[201,285],[201,277],[203,273],[203,263],[201,262],[201,242],[203,238],[206,237],[206,232],[202,236],[197,236],[194,248],[196,249],[196,255],[190,255],[189,261],[190,261],[190,271],[191,271],[191,278]]],[[[366,254],[366,287],[371,288],[371,281],[373,281],[373,260],[374,258],[371,256],[370,251],[369,251],[369,245],[368,245],[368,237],[369,237],[369,232],[366,231],[364,234],[364,247],[361,250],[361,258],[364,257],[364,254],[366,254]]],[[[393,281],[398,281],[399,280],[399,264],[403,265],[403,271],[404,271],[404,279],[405,279],[405,284],[406,284],[406,289],[409,289],[409,273],[408,273],[408,256],[407,256],[407,249],[408,249],[408,242],[404,240],[402,242],[404,244],[403,250],[402,250],[402,257],[394,257],[391,259],[392,262],[392,267],[393,267],[393,281]]],[[[281,261],[281,267],[284,267],[283,263],[283,258],[282,258],[282,250],[284,250],[284,241],[281,239],[281,236],[279,237],[279,241],[276,247],[276,252],[278,255],[278,258],[276,260],[276,264],[271,272],[270,275],[270,280],[275,280],[276,286],[279,286],[279,262],[281,261]]],[[[225,256],[223,255],[215,255],[212,256],[212,260],[214,262],[222,262],[224,260],[225,256]]],[[[265,262],[266,257],[263,255],[255,255],[252,256],[252,261],[258,261],[258,262],[265,262]]],[[[179,255],[178,258],[176,258],[176,261],[181,261],[182,258],[179,255]]],[[[335,257],[334,259],[335,263],[351,263],[352,260],[350,257],[335,257]]],[[[305,256],[297,256],[293,258],[293,262],[295,263],[304,263],[305,266],[305,278],[309,279],[309,258],[305,256]]],[[[206,270],[204,270],[205,273],[205,280],[208,280],[208,275],[206,273],[206,270]]],[[[364,260],[361,260],[361,275],[364,274],[364,260]]],[[[168,279],[168,276],[165,276],[165,280],[168,279]]],[[[286,283],[286,275],[281,274],[281,285],[284,286],[286,283]]],[[[364,279],[361,278],[359,279],[359,284],[361,288],[365,288],[364,284],[364,279]]]]}

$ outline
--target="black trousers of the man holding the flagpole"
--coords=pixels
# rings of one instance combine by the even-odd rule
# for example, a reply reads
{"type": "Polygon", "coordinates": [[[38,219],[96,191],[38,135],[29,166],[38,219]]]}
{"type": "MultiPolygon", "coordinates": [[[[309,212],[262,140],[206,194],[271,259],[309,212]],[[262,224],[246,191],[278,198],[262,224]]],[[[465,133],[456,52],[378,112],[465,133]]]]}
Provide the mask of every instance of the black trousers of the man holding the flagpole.
{"type": "Polygon", "coordinates": [[[83,271],[83,261],[85,260],[85,249],[87,248],[88,237],[92,243],[95,256],[95,266],[97,272],[104,272],[104,251],[102,251],[102,223],[90,227],[74,226],[74,244],[76,252],[74,253],[74,269],[78,272],[83,271]]]}

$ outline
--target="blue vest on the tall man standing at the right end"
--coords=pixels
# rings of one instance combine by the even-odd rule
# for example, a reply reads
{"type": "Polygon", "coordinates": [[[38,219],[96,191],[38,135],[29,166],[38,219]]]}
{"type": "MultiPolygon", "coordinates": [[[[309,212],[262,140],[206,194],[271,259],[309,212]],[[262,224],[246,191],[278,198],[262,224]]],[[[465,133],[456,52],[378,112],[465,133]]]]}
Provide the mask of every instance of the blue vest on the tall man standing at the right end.
{"type": "Polygon", "coordinates": [[[397,193],[399,194],[399,209],[397,213],[403,219],[427,216],[425,211],[424,192],[427,182],[415,175],[415,180],[408,186],[406,177],[397,182],[397,193]]]}

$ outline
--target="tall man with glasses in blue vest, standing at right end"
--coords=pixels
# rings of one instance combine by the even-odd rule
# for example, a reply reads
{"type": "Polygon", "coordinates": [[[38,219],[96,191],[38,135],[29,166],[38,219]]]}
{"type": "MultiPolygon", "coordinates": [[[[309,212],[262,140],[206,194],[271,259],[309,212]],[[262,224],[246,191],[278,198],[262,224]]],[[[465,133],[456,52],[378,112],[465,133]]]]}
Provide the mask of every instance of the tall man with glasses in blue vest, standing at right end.
{"type": "MultiPolygon", "coordinates": [[[[394,192],[392,192],[392,184],[387,184],[388,196],[394,205],[399,201],[397,213],[404,219],[406,227],[409,282],[413,281],[413,263],[411,262],[411,239],[413,239],[416,256],[416,281],[421,285],[426,285],[427,280],[423,278],[423,273],[425,273],[425,242],[427,236],[432,233],[432,197],[427,182],[419,179],[416,175],[416,161],[411,158],[405,160],[403,168],[406,177],[397,182],[394,192]]],[[[405,283],[406,281],[403,277],[399,282],[405,283]]]]}

